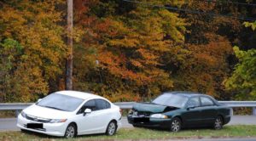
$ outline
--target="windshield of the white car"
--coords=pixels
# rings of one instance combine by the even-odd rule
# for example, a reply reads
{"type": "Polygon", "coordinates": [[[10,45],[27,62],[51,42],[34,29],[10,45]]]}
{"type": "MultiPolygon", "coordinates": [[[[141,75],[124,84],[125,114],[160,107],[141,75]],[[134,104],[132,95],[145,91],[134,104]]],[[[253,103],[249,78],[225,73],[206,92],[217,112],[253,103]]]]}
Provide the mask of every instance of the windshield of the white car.
{"type": "Polygon", "coordinates": [[[73,111],[76,110],[84,99],[53,93],[37,103],[38,106],[55,110],[73,111]]]}

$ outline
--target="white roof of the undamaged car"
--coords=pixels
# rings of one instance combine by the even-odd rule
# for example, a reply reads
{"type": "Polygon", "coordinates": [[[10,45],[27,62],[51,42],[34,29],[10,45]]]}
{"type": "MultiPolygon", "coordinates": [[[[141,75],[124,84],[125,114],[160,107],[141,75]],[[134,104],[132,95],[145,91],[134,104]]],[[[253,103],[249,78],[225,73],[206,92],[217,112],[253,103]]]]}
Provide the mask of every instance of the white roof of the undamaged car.
{"type": "Polygon", "coordinates": [[[68,95],[79,99],[90,99],[90,98],[96,98],[96,99],[104,99],[101,96],[92,94],[92,93],[84,93],[79,91],[58,91],[55,92],[58,94],[68,95]]]}

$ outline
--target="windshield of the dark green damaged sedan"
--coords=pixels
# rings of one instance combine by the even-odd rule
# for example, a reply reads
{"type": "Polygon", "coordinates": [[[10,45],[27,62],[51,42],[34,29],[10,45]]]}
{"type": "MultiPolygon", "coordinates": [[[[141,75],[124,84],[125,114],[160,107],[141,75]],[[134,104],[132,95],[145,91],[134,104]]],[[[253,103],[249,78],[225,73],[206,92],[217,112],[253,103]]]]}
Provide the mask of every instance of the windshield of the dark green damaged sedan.
{"type": "Polygon", "coordinates": [[[183,108],[187,101],[188,98],[184,97],[183,95],[164,93],[156,99],[154,99],[152,103],[183,108]]]}

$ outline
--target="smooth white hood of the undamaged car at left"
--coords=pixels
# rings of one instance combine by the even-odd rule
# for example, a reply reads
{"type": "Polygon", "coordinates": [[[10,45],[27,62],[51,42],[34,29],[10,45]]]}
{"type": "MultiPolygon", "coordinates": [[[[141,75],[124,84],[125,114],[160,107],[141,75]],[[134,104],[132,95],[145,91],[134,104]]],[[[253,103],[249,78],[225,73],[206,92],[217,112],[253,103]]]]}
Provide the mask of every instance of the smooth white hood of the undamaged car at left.
{"type": "Polygon", "coordinates": [[[32,104],[23,110],[29,116],[37,116],[47,119],[66,119],[72,116],[73,112],[67,112],[62,110],[54,110],[46,107],[38,106],[37,104],[32,104]]]}

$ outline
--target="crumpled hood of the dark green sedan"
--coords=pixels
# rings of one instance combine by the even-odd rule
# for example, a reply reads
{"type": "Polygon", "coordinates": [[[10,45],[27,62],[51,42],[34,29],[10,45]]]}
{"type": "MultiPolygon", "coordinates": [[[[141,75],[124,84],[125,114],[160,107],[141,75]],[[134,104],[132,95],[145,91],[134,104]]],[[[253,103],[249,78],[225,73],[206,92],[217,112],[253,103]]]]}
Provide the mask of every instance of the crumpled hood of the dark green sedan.
{"type": "Polygon", "coordinates": [[[148,111],[151,113],[160,113],[166,110],[165,105],[152,104],[152,103],[136,103],[133,104],[133,109],[138,111],[148,111]]]}

